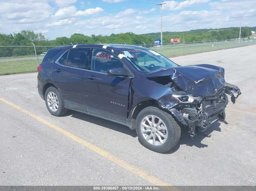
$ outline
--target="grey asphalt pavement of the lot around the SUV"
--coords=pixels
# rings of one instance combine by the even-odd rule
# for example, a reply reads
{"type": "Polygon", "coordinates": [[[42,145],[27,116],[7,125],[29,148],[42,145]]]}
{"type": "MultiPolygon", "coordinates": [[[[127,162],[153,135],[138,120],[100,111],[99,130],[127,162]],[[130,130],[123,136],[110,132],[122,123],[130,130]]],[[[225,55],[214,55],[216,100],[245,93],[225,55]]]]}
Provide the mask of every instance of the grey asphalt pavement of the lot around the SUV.
{"type": "MultiPolygon", "coordinates": [[[[76,111],[55,117],[38,95],[37,73],[0,76],[0,97],[70,132],[149,175],[175,186],[255,185],[256,45],[181,56],[181,65],[225,68],[242,92],[215,122],[211,138],[185,129],[174,149],[155,153],[135,131],[76,111]]],[[[0,185],[152,185],[117,163],[0,100],[0,185]]]]}

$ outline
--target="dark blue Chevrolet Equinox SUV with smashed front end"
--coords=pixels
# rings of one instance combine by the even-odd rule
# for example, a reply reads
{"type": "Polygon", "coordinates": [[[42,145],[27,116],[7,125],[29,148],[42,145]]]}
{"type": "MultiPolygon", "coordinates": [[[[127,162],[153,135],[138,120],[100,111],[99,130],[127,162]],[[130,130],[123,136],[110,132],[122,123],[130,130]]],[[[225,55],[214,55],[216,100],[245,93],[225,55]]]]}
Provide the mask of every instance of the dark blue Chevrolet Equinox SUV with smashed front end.
{"type": "Polygon", "coordinates": [[[70,109],[126,125],[160,153],[178,143],[181,126],[193,137],[224,120],[227,94],[232,102],[241,94],[222,67],[180,66],[154,50],[118,44],[48,50],[38,92],[52,115],[70,109]]]}

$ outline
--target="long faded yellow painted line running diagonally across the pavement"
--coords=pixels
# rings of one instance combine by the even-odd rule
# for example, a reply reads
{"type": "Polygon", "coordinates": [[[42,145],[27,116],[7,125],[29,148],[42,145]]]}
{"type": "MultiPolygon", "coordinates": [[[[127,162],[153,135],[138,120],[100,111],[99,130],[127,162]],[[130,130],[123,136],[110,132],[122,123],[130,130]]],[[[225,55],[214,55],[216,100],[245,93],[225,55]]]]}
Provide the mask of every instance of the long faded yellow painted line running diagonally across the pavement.
{"type": "Polygon", "coordinates": [[[34,113],[31,113],[28,110],[25,110],[22,107],[19,107],[19,106],[15,105],[14,103],[11,103],[11,102],[9,102],[9,101],[1,98],[1,97],[0,97],[0,100],[2,102],[4,102],[4,103],[14,107],[15,109],[17,109],[17,110],[19,110],[19,111],[21,111],[23,113],[28,114],[29,116],[33,117],[34,119],[44,123],[45,125],[51,127],[52,129],[54,129],[56,131],[62,133],[66,137],[73,139],[75,142],[80,143],[81,145],[83,145],[83,146],[89,148],[90,150],[100,154],[101,156],[109,159],[110,161],[115,162],[116,164],[118,164],[119,166],[125,168],[126,170],[129,170],[132,173],[135,173],[136,175],[140,176],[141,178],[144,178],[145,180],[151,182],[152,184],[155,184],[157,186],[171,186],[170,184],[165,183],[164,181],[160,180],[159,178],[154,177],[154,176],[146,173],[145,171],[143,171],[143,170],[141,170],[141,169],[139,169],[139,168],[129,164],[128,162],[126,162],[126,161],[124,161],[124,160],[122,160],[120,158],[115,157],[114,155],[112,155],[112,154],[102,150],[101,148],[99,148],[99,147],[97,147],[95,145],[92,145],[91,143],[89,143],[89,142],[87,142],[87,141],[77,137],[76,135],[73,135],[70,132],[68,132],[68,131],[66,131],[66,130],[64,130],[64,129],[62,129],[62,128],[60,128],[60,127],[58,127],[58,126],[56,126],[56,125],[46,121],[45,119],[35,115],[34,113]]]}

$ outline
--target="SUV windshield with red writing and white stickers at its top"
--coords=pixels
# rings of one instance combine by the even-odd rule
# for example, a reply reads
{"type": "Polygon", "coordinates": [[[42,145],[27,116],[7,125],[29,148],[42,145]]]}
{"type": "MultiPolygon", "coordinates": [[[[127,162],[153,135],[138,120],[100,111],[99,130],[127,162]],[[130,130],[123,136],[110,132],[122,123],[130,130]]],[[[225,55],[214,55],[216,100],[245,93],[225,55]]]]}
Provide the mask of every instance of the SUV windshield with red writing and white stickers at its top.
{"type": "Polygon", "coordinates": [[[161,67],[178,66],[168,58],[150,49],[120,49],[121,54],[137,68],[144,73],[152,72],[161,67]]]}

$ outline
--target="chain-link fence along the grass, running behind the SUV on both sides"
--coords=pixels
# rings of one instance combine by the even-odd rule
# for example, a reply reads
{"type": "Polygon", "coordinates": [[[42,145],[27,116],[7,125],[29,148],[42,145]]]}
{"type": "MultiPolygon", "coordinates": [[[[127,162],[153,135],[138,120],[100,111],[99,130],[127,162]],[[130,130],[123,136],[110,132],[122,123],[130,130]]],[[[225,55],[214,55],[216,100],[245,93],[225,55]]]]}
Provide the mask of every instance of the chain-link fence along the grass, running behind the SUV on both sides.
{"type": "MultiPolygon", "coordinates": [[[[214,50],[237,48],[256,44],[253,39],[209,40],[200,42],[183,42],[163,44],[137,44],[155,50],[171,58],[175,56],[210,52],[214,50]]],[[[36,72],[48,49],[58,46],[0,46],[0,75],[36,72]]]]}

